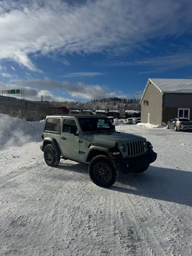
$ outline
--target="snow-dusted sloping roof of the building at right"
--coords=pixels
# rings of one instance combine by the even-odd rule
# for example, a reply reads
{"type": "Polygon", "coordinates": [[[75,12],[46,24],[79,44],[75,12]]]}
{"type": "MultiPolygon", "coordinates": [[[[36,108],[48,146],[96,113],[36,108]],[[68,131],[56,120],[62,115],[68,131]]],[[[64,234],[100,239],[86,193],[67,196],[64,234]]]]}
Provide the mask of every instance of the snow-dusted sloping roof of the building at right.
{"type": "Polygon", "coordinates": [[[163,93],[192,93],[192,79],[149,79],[163,93]]]}

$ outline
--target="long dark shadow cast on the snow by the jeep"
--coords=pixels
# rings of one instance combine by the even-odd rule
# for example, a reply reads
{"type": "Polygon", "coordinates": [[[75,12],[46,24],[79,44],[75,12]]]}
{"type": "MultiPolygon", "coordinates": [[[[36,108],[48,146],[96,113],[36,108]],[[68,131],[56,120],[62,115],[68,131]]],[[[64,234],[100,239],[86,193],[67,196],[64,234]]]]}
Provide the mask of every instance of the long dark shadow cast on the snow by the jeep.
{"type": "MultiPolygon", "coordinates": [[[[59,169],[87,174],[86,164],[62,164],[59,169]]],[[[86,179],[86,177],[85,177],[86,179]]],[[[150,166],[143,174],[119,174],[110,188],[121,193],[149,197],[192,207],[192,172],[150,166]]]]}

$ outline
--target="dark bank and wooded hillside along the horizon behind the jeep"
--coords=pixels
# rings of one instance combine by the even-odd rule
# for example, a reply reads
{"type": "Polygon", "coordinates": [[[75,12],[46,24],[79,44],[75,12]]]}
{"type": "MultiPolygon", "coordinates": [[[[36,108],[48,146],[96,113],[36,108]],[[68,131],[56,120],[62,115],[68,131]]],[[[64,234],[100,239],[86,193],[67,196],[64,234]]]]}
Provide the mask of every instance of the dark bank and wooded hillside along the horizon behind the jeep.
{"type": "Polygon", "coordinates": [[[39,121],[48,114],[68,113],[69,110],[119,110],[124,116],[125,110],[140,110],[139,100],[125,98],[102,98],[88,102],[80,101],[26,101],[16,98],[1,96],[0,113],[11,117],[26,119],[27,121],[39,121]],[[62,107],[62,108],[55,108],[62,107]],[[63,108],[64,107],[64,108],[63,108]]]}

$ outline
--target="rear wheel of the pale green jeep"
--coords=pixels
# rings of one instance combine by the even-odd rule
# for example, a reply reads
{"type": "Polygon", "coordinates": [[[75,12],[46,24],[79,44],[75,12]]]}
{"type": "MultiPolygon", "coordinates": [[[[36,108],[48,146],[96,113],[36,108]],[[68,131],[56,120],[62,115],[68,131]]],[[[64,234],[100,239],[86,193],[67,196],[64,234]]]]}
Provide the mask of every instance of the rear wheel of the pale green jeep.
{"type": "Polygon", "coordinates": [[[57,154],[55,147],[52,144],[47,144],[44,148],[44,160],[48,166],[58,166],[60,155],[57,154]]]}

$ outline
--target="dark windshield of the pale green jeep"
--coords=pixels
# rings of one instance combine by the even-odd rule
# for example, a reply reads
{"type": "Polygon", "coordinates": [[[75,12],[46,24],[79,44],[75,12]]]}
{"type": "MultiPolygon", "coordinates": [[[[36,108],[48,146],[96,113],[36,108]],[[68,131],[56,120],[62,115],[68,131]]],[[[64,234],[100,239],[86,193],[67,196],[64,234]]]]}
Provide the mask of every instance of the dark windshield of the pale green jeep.
{"type": "Polygon", "coordinates": [[[110,119],[99,118],[79,118],[82,131],[111,131],[114,130],[110,119]]]}

